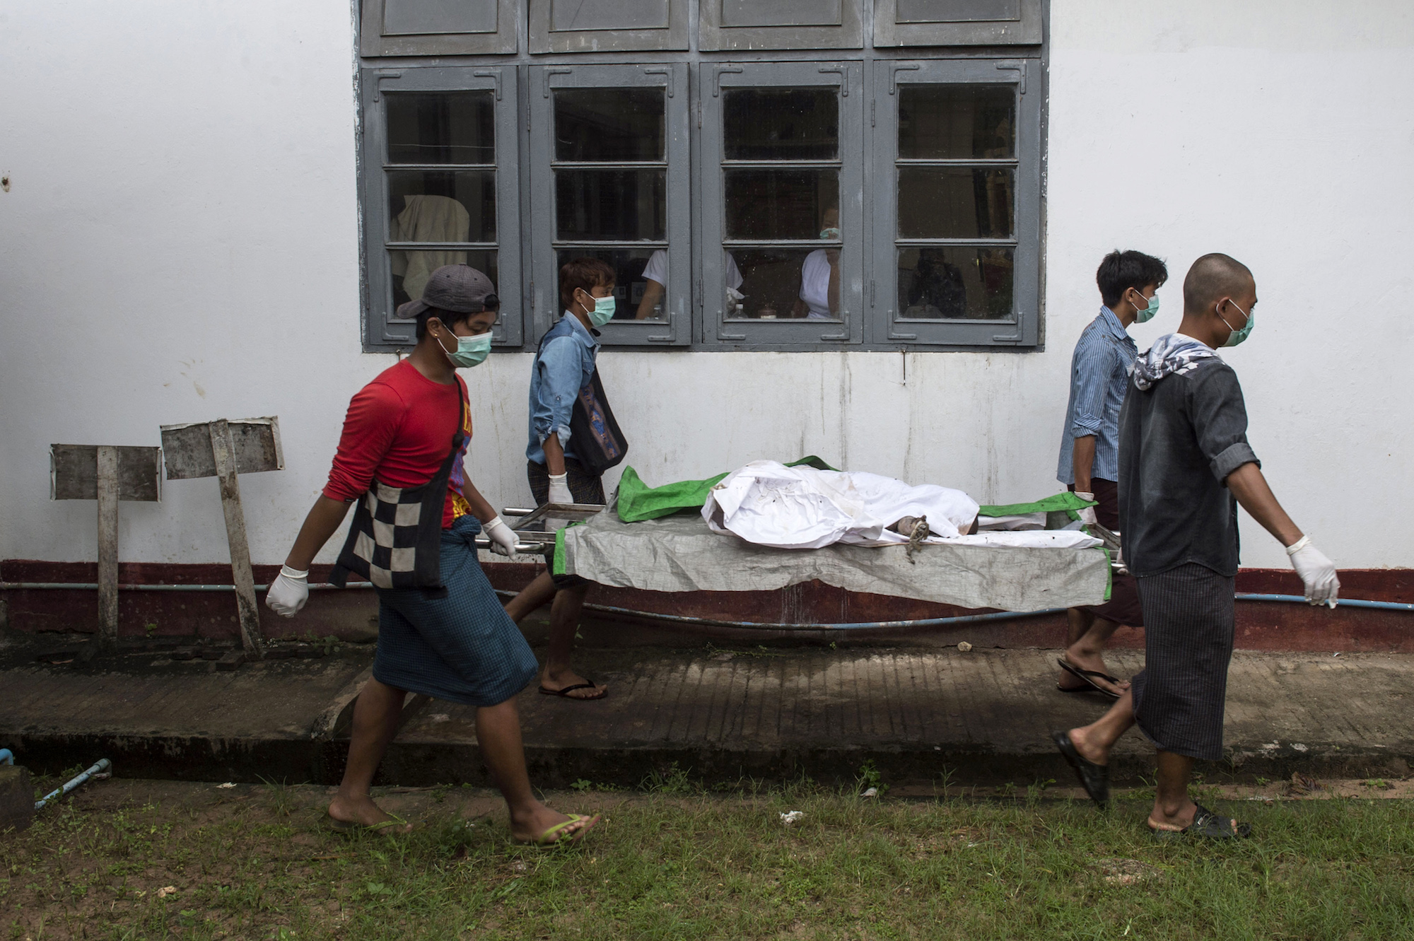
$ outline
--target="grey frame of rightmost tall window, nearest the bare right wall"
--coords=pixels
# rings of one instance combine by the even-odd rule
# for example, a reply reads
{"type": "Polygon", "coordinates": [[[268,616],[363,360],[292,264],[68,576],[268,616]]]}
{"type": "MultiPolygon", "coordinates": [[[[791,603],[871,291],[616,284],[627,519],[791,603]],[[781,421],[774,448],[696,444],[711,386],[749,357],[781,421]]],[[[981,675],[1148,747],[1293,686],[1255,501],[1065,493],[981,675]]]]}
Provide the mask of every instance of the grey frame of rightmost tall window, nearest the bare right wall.
{"type": "Polygon", "coordinates": [[[874,244],[875,295],[872,343],[909,343],[913,346],[1036,346],[1041,335],[1041,147],[1042,88],[1041,62],[1014,59],[889,59],[875,62],[877,127],[874,130],[874,244]],[[1015,160],[953,160],[929,164],[998,164],[1017,168],[1012,202],[1011,239],[899,239],[898,237],[898,93],[899,85],[1012,85],[1017,93],[1015,160]],[[908,319],[898,318],[898,277],[895,249],[909,246],[997,244],[1015,250],[1012,263],[1012,321],[980,319],[908,319]]]}

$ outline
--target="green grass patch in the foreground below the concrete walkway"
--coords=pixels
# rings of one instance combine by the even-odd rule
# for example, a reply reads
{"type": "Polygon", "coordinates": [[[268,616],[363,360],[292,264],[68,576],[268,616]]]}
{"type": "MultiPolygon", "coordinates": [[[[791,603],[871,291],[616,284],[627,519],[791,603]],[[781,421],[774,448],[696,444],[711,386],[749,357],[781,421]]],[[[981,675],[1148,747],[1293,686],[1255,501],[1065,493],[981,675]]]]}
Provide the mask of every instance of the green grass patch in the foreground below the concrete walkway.
{"type": "Polygon", "coordinates": [[[0,940],[1414,937],[1404,800],[1219,801],[1257,838],[1172,845],[1140,800],[645,787],[551,795],[605,821],[546,852],[471,788],[389,788],[421,828],[346,839],[322,787],[106,781],[0,836],[0,940]]]}

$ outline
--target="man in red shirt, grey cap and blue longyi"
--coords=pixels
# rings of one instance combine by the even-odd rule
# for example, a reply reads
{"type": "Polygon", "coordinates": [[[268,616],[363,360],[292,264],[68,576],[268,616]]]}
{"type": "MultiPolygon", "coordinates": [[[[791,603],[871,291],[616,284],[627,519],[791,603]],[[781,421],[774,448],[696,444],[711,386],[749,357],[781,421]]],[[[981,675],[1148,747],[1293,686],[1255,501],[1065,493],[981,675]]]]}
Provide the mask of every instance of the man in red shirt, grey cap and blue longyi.
{"type": "MultiPolygon", "coordinates": [[[[431,507],[433,523],[440,523],[440,544],[434,540],[440,584],[431,591],[393,586],[392,579],[399,576],[396,555],[411,551],[397,548],[402,543],[396,538],[386,550],[395,557],[392,564],[383,568],[369,564],[379,599],[378,654],[373,675],[354,708],[344,780],[329,801],[328,815],[335,829],[407,828],[373,803],[369,786],[397,732],[409,691],[477,706],[481,757],[506,798],[516,839],[574,841],[598,822],[598,817],[556,812],[530,790],[515,697],[534,678],[537,665],[477,560],[474,537],[482,530],[502,554],[513,555],[516,545],[515,533],[462,469],[471,439],[471,408],[457,367],[485,359],[496,307],[489,278],[461,264],[434,271],[423,297],[399,308],[399,316],[417,321],[417,346],[354,396],[329,482],[266,595],[266,603],[287,617],[304,606],[310,562],[339,528],[354,502],[397,504],[393,523],[373,516],[368,530],[375,534],[379,527],[386,534],[402,526],[407,509],[431,507]],[[438,480],[447,463],[451,466],[445,493],[424,492],[420,504],[399,500],[399,495],[438,480]]],[[[355,538],[339,557],[341,565],[351,560],[358,527],[355,517],[355,538]]],[[[379,558],[376,551],[372,557],[379,558]]]]}

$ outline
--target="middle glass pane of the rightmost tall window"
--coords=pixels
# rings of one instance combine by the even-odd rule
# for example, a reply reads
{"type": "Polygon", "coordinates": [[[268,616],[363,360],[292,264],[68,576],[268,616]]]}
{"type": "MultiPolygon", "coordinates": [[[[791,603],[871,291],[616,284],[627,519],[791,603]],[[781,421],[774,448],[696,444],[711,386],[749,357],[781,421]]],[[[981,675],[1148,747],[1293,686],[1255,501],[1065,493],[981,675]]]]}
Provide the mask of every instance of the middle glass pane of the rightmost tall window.
{"type": "Polygon", "coordinates": [[[1010,167],[898,168],[901,239],[1010,239],[1017,171],[1010,167]]]}

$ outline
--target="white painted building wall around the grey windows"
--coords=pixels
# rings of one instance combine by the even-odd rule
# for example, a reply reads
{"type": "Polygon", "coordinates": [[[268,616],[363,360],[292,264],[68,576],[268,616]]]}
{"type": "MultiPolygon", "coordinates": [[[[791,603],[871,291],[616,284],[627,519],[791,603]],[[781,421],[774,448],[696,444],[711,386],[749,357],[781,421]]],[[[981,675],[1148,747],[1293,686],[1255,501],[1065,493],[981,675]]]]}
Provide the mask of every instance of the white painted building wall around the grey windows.
{"type": "MultiPolygon", "coordinates": [[[[1342,567],[1414,567],[1414,14],[1403,0],[1052,4],[1046,350],[615,353],[602,372],[649,483],[752,458],[969,490],[1059,489],[1070,348],[1100,256],[1257,276],[1225,353],[1251,441],[1342,567]],[[1377,520],[1377,526],[1370,526],[1377,520]]],[[[49,442],[158,444],[160,424],[279,414],[286,470],[242,478],[252,555],[279,562],[322,486],[359,352],[348,4],[0,7],[0,557],[92,560],[95,504],[48,500],[49,442]]],[[[529,356],[467,373],[469,469],[529,499],[529,356]]],[[[225,561],[214,480],[122,507],[123,558],[225,561]]],[[[1282,567],[1244,523],[1244,564],[1282,567]]],[[[331,558],[327,551],[325,560],[331,558]]]]}

